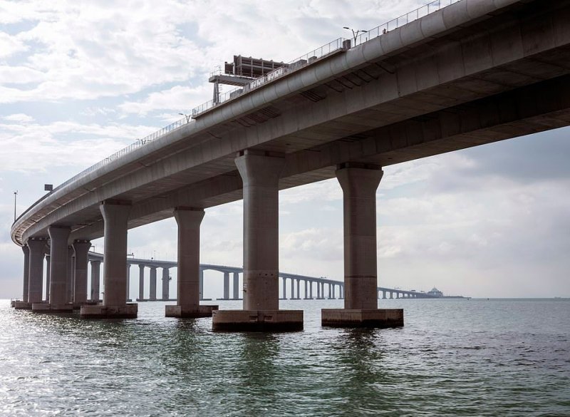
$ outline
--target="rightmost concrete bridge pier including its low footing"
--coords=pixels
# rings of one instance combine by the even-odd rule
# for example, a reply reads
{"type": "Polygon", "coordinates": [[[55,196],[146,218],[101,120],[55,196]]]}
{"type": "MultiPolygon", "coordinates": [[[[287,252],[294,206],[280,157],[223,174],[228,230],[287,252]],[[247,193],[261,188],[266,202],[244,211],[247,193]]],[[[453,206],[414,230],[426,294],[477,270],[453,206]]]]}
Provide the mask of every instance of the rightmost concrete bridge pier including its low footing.
{"type": "Polygon", "coordinates": [[[336,177],[343,189],[344,309],[323,309],[323,326],[403,326],[403,310],[379,310],[376,264],[376,189],[383,171],[346,163],[336,177]]]}

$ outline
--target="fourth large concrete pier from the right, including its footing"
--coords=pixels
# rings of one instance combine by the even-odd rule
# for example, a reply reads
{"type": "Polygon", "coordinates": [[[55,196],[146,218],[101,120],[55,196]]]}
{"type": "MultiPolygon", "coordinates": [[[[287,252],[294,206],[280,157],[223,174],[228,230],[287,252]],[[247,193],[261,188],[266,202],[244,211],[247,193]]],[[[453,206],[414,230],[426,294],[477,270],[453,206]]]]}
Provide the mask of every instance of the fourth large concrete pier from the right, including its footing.
{"type": "Polygon", "coordinates": [[[103,249],[103,304],[82,306],[85,318],[136,318],[138,305],[127,304],[127,230],[130,204],[103,201],[99,206],[105,223],[103,249]]]}

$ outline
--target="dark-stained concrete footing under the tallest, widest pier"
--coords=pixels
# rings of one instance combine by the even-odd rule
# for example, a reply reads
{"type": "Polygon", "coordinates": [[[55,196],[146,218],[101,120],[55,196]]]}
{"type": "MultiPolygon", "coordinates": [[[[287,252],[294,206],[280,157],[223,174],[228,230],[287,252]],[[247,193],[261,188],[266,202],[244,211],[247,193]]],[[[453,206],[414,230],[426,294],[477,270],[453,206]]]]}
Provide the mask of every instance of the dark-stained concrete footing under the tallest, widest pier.
{"type": "Polygon", "coordinates": [[[217,310],[214,331],[301,331],[303,310],[217,310]]]}

